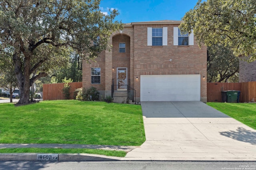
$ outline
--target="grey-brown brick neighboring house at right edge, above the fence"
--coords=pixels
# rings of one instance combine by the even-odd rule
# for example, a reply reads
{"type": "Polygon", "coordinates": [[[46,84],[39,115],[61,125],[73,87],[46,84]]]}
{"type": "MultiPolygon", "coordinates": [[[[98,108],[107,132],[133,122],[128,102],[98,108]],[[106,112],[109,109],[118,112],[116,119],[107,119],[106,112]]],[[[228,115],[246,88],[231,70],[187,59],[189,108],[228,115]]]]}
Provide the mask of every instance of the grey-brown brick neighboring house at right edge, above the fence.
{"type": "Polygon", "coordinates": [[[239,61],[239,82],[256,81],[256,61],[248,63],[247,61],[239,61]]]}

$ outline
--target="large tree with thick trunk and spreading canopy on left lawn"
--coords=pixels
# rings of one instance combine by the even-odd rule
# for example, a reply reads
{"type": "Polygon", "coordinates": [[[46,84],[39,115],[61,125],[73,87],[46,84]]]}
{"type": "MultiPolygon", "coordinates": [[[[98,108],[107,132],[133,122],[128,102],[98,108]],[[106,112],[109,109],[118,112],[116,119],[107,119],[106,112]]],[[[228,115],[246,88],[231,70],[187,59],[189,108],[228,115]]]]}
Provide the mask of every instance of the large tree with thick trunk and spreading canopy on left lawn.
{"type": "Polygon", "coordinates": [[[29,103],[30,86],[52,66],[65,64],[70,49],[89,61],[108,48],[109,35],[122,24],[114,21],[116,10],[105,15],[99,4],[100,0],[0,0],[1,50],[13,49],[18,104],[29,103]]]}

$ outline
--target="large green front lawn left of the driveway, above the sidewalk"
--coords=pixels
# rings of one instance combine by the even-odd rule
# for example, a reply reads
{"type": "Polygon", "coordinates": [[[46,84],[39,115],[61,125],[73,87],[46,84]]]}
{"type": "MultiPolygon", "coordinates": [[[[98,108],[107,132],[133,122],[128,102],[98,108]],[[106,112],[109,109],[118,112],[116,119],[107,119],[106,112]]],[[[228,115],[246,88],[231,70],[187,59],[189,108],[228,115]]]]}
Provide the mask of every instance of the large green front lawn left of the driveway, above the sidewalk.
{"type": "Polygon", "coordinates": [[[139,105],[77,100],[18,107],[8,103],[0,104],[0,120],[0,143],[139,146],[145,141],[139,105]]]}

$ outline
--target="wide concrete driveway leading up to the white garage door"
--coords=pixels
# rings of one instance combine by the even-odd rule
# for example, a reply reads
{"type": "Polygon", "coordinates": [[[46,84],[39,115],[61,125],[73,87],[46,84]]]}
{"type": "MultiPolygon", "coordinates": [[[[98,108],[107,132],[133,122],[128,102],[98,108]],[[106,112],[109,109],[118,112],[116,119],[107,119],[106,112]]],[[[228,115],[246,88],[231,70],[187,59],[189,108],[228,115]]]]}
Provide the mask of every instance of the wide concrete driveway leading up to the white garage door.
{"type": "Polygon", "coordinates": [[[256,130],[202,102],[141,106],[146,142],[130,160],[256,160],[256,130]]]}

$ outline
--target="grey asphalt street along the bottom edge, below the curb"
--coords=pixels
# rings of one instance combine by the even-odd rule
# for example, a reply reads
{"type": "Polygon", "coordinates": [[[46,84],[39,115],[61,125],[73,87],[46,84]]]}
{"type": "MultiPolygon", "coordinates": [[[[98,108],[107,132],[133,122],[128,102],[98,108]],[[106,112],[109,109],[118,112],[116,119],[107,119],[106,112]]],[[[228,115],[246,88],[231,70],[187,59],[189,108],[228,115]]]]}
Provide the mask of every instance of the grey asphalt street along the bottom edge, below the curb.
{"type": "Polygon", "coordinates": [[[36,162],[0,161],[0,170],[256,170],[256,162],[36,162]]]}

